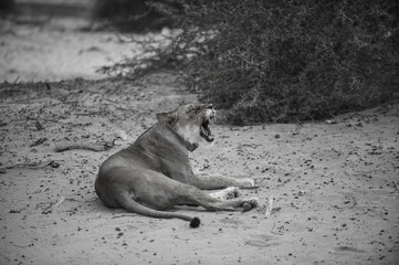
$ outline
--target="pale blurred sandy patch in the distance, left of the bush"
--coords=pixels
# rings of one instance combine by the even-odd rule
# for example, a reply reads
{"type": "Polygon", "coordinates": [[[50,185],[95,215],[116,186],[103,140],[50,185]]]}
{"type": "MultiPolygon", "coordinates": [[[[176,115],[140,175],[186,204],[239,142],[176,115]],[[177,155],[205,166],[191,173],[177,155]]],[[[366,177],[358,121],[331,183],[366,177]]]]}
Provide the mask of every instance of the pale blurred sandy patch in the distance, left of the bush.
{"type": "Polygon", "coordinates": [[[118,34],[87,32],[90,26],[78,18],[0,20],[0,82],[104,78],[96,70],[139,52],[118,34]]]}

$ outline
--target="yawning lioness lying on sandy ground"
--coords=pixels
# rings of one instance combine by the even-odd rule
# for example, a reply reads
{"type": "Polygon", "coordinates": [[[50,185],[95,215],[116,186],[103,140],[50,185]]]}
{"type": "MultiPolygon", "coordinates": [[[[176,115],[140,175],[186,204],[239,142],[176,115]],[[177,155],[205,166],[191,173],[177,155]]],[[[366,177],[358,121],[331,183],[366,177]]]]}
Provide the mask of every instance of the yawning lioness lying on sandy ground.
{"type": "Polygon", "coordinates": [[[214,116],[209,104],[189,104],[157,114],[157,124],[103,162],[95,181],[98,198],[108,208],[153,218],[179,218],[190,221],[191,227],[199,226],[198,218],[160,210],[178,204],[201,205],[210,211],[256,206],[258,199],[235,198],[235,187],[253,187],[252,179],[192,172],[188,151],[193,151],[201,139],[213,141],[209,123],[214,116]],[[202,191],[221,188],[227,189],[211,194],[202,191]]]}

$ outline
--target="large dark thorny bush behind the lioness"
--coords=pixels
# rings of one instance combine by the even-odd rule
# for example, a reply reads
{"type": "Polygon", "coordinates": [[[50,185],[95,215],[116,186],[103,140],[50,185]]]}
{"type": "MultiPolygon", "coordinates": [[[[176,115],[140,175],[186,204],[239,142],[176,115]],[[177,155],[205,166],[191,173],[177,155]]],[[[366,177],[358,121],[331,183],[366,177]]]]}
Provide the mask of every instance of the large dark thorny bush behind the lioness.
{"type": "Polygon", "coordinates": [[[141,43],[150,57],[104,70],[138,76],[174,66],[202,100],[229,109],[232,123],[321,119],[399,97],[395,0],[150,0],[146,7],[181,32],[166,45],[141,43]]]}

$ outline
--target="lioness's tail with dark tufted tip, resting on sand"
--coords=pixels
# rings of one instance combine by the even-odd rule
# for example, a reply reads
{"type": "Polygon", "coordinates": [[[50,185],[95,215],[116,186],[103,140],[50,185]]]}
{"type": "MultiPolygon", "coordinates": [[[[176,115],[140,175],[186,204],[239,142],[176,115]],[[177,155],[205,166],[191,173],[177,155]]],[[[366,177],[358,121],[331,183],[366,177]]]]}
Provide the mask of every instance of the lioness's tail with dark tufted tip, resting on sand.
{"type": "Polygon", "coordinates": [[[157,211],[157,210],[147,208],[147,206],[136,202],[135,200],[133,200],[132,198],[129,198],[127,195],[120,195],[118,202],[124,209],[126,209],[129,212],[139,213],[139,214],[147,215],[150,218],[159,218],[159,219],[177,218],[177,219],[190,221],[190,227],[193,227],[193,229],[198,227],[201,223],[199,218],[191,218],[186,214],[157,211]]]}

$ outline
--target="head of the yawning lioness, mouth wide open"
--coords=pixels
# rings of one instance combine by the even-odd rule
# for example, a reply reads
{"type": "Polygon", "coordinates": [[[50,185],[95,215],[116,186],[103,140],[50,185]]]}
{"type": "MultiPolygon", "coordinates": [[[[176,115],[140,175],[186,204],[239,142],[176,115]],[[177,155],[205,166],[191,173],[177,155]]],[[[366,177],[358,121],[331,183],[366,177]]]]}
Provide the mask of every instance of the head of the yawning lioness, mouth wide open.
{"type": "Polygon", "coordinates": [[[170,126],[185,141],[197,146],[201,139],[208,142],[214,140],[209,128],[214,117],[212,104],[187,104],[175,112],[157,114],[159,123],[170,126]]]}

